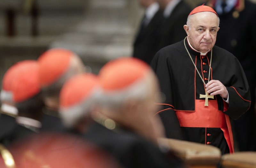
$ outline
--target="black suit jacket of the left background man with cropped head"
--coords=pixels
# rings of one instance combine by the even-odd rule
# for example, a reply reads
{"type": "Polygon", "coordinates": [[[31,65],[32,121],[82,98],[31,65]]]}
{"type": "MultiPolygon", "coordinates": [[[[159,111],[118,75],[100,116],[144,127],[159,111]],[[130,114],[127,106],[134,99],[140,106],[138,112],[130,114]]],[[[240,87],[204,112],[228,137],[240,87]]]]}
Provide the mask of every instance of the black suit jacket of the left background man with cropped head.
{"type": "Polygon", "coordinates": [[[133,43],[133,57],[139,58],[150,64],[158,48],[161,38],[160,27],[164,17],[161,10],[158,10],[148,25],[143,25],[143,20],[140,30],[133,43]]]}

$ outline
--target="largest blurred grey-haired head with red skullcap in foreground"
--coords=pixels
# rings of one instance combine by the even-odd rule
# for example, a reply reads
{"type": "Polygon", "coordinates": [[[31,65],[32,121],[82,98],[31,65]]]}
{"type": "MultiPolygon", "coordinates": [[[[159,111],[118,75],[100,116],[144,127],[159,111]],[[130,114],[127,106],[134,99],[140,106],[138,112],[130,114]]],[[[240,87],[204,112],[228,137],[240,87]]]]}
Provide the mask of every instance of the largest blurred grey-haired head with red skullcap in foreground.
{"type": "Polygon", "coordinates": [[[106,116],[122,127],[156,142],[164,135],[158,116],[158,81],[151,68],[135,58],[108,62],[99,73],[102,93],[93,116],[106,116]]]}

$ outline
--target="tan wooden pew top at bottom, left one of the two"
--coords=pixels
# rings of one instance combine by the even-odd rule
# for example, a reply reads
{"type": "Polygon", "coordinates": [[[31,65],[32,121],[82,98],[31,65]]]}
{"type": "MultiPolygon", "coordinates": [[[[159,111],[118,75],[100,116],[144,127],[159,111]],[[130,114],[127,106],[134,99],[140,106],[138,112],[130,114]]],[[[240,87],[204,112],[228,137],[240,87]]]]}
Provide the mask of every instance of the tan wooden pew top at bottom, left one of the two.
{"type": "Polygon", "coordinates": [[[211,145],[159,138],[159,144],[168,146],[189,168],[216,168],[220,163],[220,149],[211,145]]]}

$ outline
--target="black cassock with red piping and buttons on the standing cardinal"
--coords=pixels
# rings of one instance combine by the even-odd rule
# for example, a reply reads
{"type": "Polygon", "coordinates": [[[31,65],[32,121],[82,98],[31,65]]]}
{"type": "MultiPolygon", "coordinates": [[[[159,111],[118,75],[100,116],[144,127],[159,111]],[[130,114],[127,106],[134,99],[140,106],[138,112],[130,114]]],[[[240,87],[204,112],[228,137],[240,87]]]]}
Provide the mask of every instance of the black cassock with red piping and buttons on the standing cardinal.
{"type": "MultiPolygon", "coordinates": [[[[206,56],[202,56],[189,47],[187,39],[185,43],[199,73],[207,83],[211,51],[206,56]]],[[[212,48],[210,80],[219,80],[227,88],[229,104],[220,95],[216,95],[214,99],[209,99],[209,106],[203,104],[199,107],[201,110],[196,110],[199,109],[196,105],[204,101],[199,98],[199,94],[205,94],[204,83],[189,58],[183,40],[157,52],[151,62],[151,67],[156,72],[161,91],[166,96],[164,103],[161,104],[163,110],[158,112],[164,123],[166,136],[211,144],[220,148],[222,154],[233,152],[233,136],[229,117],[238,119],[251,104],[249,86],[236,57],[218,46],[212,48]],[[212,108],[216,108],[214,113],[207,113],[207,110],[212,108]],[[212,117],[217,112],[222,115],[222,120],[225,122],[222,123],[225,125],[223,128],[194,126],[201,123],[207,125],[212,121],[218,122],[219,119],[212,117]],[[193,118],[195,114],[199,114],[197,117],[204,118],[204,113],[209,115],[207,121],[193,118]],[[192,118],[187,118],[187,120],[194,120],[194,125],[183,126],[183,123],[179,122],[180,118],[178,119],[180,114],[191,115],[192,118]]]]}

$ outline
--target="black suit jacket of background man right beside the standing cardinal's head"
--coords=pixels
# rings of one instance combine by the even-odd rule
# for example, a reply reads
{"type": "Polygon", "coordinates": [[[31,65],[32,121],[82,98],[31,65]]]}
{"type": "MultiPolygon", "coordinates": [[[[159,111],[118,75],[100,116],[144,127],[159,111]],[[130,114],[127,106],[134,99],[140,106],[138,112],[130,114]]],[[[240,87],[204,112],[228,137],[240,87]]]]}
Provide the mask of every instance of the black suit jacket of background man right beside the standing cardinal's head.
{"type": "Polygon", "coordinates": [[[184,1],[180,1],[173,9],[171,15],[165,18],[161,26],[161,39],[158,48],[174,44],[187,35],[183,26],[187,23],[188,14],[192,9],[184,1]]]}

